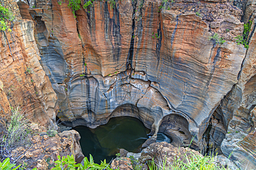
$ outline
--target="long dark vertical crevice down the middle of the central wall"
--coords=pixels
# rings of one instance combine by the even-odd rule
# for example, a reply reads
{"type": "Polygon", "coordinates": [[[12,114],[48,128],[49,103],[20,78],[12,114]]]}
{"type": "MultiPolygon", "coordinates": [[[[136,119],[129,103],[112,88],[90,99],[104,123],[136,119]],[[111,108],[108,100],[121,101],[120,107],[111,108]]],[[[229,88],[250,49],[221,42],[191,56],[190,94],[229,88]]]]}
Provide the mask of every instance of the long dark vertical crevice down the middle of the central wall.
{"type": "Polygon", "coordinates": [[[132,59],[134,57],[134,28],[135,28],[135,13],[136,13],[136,6],[137,6],[137,1],[132,1],[132,33],[131,33],[131,43],[129,47],[129,53],[127,56],[127,63],[126,63],[126,69],[128,70],[129,68],[132,68],[132,59]]]}

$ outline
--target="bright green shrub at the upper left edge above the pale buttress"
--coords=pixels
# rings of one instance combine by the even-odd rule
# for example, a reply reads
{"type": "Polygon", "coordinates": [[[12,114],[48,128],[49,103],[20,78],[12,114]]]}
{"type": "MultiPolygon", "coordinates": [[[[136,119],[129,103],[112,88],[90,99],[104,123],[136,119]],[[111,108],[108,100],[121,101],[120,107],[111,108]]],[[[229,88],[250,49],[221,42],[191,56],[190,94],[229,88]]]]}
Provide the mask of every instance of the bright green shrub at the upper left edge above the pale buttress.
{"type": "Polygon", "coordinates": [[[12,12],[0,4],[0,31],[8,30],[8,32],[11,32],[9,25],[13,19],[12,12]]]}

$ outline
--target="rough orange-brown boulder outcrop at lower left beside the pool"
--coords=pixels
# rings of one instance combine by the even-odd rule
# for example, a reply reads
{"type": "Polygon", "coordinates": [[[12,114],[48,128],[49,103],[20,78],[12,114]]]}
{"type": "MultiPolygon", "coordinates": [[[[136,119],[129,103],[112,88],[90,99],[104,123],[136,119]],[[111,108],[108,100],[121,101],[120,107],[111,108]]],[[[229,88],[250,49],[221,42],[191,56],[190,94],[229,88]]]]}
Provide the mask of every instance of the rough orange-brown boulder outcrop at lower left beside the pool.
{"type": "Polygon", "coordinates": [[[80,147],[80,134],[77,131],[63,131],[55,136],[48,136],[45,127],[35,123],[29,125],[33,134],[29,137],[31,142],[28,146],[17,147],[12,150],[12,158],[17,159],[18,164],[26,162],[26,169],[50,169],[54,167],[57,156],[73,155],[79,162],[84,158],[80,147]]]}

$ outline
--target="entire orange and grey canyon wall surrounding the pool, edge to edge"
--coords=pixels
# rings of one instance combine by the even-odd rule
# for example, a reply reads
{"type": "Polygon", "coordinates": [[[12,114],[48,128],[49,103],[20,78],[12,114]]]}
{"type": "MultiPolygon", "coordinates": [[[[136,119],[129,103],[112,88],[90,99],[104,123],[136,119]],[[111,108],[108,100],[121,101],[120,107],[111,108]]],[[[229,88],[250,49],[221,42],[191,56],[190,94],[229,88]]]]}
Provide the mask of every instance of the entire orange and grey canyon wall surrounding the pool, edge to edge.
{"type": "Polygon", "coordinates": [[[255,161],[255,1],[93,1],[85,9],[82,1],[77,11],[68,1],[17,4],[23,20],[1,38],[11,105],[43,125],[56,111],[71,127],[134,116],[152,129],[144,146],[160,131],[173,145],[193,139],[205,153],[228,157],[235,148],[232,160],[255,161]],[[249,20],[246,49],[235,37],[249,20]]]}

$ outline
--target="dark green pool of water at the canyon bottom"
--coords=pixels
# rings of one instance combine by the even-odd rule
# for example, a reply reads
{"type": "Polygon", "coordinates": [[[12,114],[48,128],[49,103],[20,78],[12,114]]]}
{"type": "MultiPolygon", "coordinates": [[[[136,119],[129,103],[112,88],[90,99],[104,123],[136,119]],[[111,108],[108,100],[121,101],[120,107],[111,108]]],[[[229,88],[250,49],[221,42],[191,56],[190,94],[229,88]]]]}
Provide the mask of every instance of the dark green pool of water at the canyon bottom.
{"type": "Polygon", "coordinates": [[[140,120],[131,117],[111,118],[109,123],[95,129],[84,126],[73,127],[79,132],[80,145],[84,156],[91,154],[95,162],[116,158],[116,153],[123,148],[131,152],[139,152],[147,140],[147,129],[140,120]]]}

